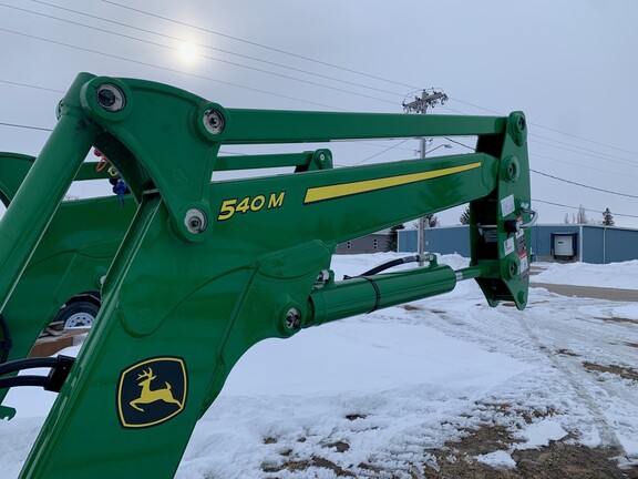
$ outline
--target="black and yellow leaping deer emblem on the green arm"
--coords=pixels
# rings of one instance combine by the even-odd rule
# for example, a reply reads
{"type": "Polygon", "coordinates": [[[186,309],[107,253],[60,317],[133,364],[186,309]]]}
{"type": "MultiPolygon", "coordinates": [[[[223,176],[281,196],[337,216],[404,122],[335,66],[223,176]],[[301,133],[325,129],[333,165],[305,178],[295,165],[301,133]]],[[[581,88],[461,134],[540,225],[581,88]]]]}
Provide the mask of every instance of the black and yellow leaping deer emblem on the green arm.
{"type": "Polygon", "coordinates": [[[117,415],[122,427],[156,426],[177,416],[186,404],[188,377],[184,359],[156,357],[122,371],[117,415]]]}

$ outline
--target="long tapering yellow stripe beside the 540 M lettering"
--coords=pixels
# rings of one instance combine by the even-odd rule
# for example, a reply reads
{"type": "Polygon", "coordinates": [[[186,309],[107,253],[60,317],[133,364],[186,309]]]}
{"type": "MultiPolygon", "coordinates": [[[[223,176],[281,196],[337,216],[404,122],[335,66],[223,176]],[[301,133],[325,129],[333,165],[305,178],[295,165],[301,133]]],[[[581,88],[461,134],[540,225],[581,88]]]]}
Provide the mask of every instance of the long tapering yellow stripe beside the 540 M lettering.
{"type": "Polygon", "coordinates": [[[359,193],[369,193],[378,190],[383,190],[387,187],[401,186],[404,184],[416,183],[424,180],[447,176],[451,174],[474,170],[481,167],[481,165],[482,165],[481,162],[476,162],[461,166],[434,170],[431,172],[411,173],[399,176],[388,176],[377,180],[364,180],[360,182],[318,186],[313,188],[308,188],[308,191],[306,192],[306,198],[303,200],[303,204],[316,203],[325,200],[333,200],[359,193]]]}

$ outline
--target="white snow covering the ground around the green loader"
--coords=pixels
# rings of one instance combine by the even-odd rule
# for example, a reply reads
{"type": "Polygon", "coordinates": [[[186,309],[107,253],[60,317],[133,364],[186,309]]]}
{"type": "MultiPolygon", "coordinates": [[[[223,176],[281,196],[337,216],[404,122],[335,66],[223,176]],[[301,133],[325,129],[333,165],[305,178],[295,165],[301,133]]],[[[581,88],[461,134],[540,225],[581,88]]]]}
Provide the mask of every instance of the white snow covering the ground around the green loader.
{"type": "MultiPolygon", "coordinates": [[[[394,254],[336,256],[337,277],[394,254]]],[[[443,256],[453,268],[467,259],[443,256]]],[[[638,289],[638,262],[539,264],[534,282],[638,289]]],[[[76,348],[65,354],[76,353],[76,348]]],[[[624,451],[638,465],[638,303],[532,287],[528,306],[491,308],[473,281],[433,298],[266,340],[233,370],[197,425],[177,478],[411,477],[433,450],[482,426],[517,442],[476,461],[516,467],[549,440],[624,451]],[[321,460],[331,468],[321,467],[321,460]],[[284,468],[285,463],[303,468],[284,468]]],[[[2,478],[17,477],[53,395],[11,391],[2,478]]],[[[440,459],[439,459],[440,460],[440,459]]]]}

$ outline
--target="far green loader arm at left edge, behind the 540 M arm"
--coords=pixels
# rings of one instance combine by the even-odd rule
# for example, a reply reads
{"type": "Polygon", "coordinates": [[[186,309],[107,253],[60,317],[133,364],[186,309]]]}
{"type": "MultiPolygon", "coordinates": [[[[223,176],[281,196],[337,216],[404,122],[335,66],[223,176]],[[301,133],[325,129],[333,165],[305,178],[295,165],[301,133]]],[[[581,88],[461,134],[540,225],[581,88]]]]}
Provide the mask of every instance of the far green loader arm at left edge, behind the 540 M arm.
{"type": "MultiPolygon", "coordinates": [[[[34,162],[33,156],[0,152],[0,201],[9,206],[34,162]]],[[[110,177],[99,163],[82,164],[75,181],[110,177]]],[[[101,279],[122,243],[135,213],[130,198],[120,205],[114,196],[66,201],[2,309],[0,364],[27,357],[39,334],[60,307],[82,293],[99,292],[101,279]]],[[[0,389],[0,402],[7,389],[0,389]]],[[[0,406],[0,418],[14,411],[0,406]]]]}

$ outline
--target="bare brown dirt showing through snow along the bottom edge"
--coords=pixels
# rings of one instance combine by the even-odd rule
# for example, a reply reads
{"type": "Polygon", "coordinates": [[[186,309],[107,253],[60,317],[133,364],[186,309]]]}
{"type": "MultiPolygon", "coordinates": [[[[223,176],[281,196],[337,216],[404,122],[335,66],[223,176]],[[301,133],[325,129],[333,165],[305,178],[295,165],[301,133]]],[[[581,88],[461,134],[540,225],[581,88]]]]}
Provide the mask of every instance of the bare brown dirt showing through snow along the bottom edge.
{"type": "MultiPolygon", "coordinates": [[[[553,409],[516,411],[507,402],[482,406],[505,416],[514,415],[526,424],[557,414],[553,409]]],[[[357,420],[361,419],[361,416],[353,414],[349,415],[348,419],[357,420]]],[[[310,476],[310,468],[328,469],[338,478],[638,479],[638,467],[618,467],[618,458],[622,456],[622,451],[614,448],[587,448],[573,444],[574,439],[567,436],[558,441],[549,441],[546,447],[519,450],[517,447],[521,447],[522,440],[514,437],[511,428],[486,424],[477,429],[462,430],[460,439],[449,441],[441,448],[425,449],[428,459],[424,462],[409,465],[408,470],[403,469],[401,472],[368,461],[340,466],[319,456],[295,460],[294,452],[289,450],[280,453],[280,463],[264,465],[261,469],[267,479],[280,479],[286,477],[287,471],[296,472],[299,477],[303,477],[308,471],[310,476]],[[484,460],[486,455],[500,451],[503,466],[493,466],[493,461],[484,460]]],[[[264,442],[276,444],[277,439],[267,438],[264,442]]],[[[325,444],[323,447],[337,452],[351,449],[344,440],[325,444]]]]}

